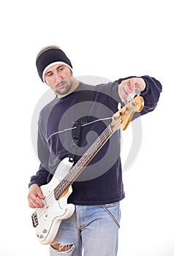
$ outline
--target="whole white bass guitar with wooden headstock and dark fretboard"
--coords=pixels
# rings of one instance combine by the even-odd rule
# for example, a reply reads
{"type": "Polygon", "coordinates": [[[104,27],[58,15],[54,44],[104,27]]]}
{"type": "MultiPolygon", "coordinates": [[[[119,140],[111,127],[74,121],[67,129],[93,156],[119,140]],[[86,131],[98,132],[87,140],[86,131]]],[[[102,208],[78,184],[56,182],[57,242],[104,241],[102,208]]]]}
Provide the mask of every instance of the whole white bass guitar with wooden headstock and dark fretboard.
{"type": "Polygon", "coordinates": [[[72,183],[91,162],[97,152],[118,129],[126,129],[135,112],[143,110],[143,97],[137,96],[124,105],[113,115],[111,123],[102,132],[97,140],[88,148],[85,154],[73,165],[69,158],[65,158],[58,165],[51,181],[41,186],[45,199],[43,207],[36,208],[32,214],[32,223],[37,238],[41,244],[51,244],[58,232],[63,219],[72,216],[75,206],[67,203],[67,198],[72,193],[72,183]]]}

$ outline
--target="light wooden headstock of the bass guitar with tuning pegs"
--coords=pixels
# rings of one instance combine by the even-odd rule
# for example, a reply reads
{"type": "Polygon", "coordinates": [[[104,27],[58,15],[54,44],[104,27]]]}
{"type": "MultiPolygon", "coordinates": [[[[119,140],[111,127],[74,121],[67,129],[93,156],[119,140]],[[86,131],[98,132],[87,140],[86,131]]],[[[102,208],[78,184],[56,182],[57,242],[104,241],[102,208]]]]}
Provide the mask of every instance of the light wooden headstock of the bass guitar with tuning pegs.
{"type": "Polygon", "coordinates": [[[132,99],[129,103],[124,105],[121,110],[118,110],[113,115],[113,121],[111,123],[111,127],[113,132],[117,129],[126,129],[128,127],[129,122],[132,120],[135,112],[140,112],[144,108],[144,99],[143,97],[137,96],[132,99]]]}

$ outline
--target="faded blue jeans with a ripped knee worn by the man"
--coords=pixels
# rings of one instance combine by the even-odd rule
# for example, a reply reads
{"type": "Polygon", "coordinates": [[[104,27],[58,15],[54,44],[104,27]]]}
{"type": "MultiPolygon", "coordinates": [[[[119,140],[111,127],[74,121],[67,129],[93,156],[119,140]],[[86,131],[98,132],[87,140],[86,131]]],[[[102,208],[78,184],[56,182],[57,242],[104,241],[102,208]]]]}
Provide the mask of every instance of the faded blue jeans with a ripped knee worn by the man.
{"type": "Polygon", "coordinates": [[[75,206],[75,212],[64,219],[58,229],[50,256],[116,256],[120,204],[75,206]]]}

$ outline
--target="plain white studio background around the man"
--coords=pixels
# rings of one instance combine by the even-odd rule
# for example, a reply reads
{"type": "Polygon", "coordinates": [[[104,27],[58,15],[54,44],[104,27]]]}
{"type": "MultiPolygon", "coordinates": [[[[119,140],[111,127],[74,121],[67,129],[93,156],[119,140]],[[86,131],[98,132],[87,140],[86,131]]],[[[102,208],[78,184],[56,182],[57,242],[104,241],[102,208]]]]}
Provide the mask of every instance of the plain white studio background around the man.
{"type": "Polygon", "coordinates": [[[35,238],[26,197],[39,165],[31,118],[48,90],[35,57],[55,44],[77,76],[151,75],[161,81],[159,105],[141,118],[140,153],[124,172],[118,256],[173,256],[173,1],[11,0],[0,12],[0,255],[48,255],[48,246],[35,238]]]}

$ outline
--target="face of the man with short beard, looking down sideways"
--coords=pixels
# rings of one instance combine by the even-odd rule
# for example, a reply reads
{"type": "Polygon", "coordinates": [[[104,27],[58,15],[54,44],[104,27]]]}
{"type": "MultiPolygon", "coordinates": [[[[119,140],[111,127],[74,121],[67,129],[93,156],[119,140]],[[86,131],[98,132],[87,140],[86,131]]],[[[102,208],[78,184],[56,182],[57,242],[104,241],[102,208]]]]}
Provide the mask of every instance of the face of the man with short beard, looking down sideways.
{"type": "Polygon", "coordinates": [[[56,94],[64,96],[72,88],[72,71],[64,64],[55,64],[45,72],[45,82],[56,94]]]}

